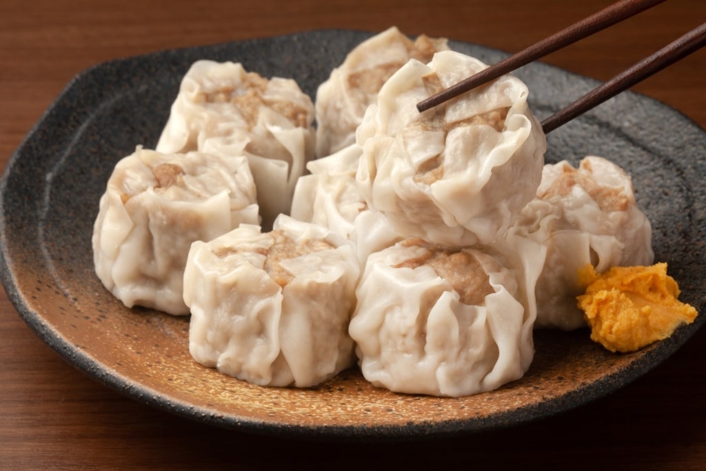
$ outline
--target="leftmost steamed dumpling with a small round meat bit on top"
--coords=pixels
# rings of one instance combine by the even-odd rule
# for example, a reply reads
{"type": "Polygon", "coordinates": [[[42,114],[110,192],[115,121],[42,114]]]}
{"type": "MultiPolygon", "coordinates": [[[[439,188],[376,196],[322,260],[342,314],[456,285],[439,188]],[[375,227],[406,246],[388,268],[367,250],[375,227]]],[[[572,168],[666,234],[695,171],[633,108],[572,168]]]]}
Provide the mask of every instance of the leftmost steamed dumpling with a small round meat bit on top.
{"type": "Polygon", "coordinates": [[[191,243],[241,222],[259,222],[244,157],[138,147],[117,163],[100,198],[92,234],[95,272],[128,307],[189,314],[182,287],[191,243]]]}

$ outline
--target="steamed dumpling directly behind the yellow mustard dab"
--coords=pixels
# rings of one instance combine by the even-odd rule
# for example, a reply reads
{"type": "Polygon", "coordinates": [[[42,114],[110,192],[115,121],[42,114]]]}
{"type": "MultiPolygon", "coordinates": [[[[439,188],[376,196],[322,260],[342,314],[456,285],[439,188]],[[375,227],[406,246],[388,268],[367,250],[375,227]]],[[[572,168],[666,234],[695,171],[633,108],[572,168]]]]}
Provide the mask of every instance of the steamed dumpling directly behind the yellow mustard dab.
{"type": "Polygon", "coordinates": [[[586,288],[580,270],[591,265],[604,273],[654,261],[652,225],[635,201],[630,176],[603,157],[585,157],[578,167],[545,165],[537,198],[512,230],[547,246],[537,281],[537,328],[586,326],[576,306],[586,288]]]}

